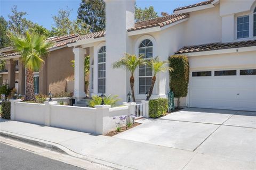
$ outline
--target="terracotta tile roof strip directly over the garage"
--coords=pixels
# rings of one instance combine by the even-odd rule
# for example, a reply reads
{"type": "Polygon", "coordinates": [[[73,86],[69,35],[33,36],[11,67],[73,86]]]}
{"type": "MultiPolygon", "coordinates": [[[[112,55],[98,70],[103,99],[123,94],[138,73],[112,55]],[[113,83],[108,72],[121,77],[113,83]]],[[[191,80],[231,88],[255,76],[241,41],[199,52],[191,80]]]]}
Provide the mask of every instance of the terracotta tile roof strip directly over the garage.
{"type": "Polygon", "coordinates": [[[251,47],[251,46],[256,46],[256,40],[238,41],[235,43],[211,43],[211,44],[203,44],[203,45],[196,45],[196,46],[186,46],[181,48],[175,54],[206,52],[211,50],[251,47]]]}

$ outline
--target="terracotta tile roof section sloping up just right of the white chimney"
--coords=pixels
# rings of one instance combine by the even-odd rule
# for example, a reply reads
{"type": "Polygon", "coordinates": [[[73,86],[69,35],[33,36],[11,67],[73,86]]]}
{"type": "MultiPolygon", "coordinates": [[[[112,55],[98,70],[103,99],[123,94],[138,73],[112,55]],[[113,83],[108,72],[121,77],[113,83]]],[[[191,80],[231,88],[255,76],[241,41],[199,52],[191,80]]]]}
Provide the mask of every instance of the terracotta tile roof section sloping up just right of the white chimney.
{"type": "Polygon", "coordinates": [[[189,14],[172,14],[167,16],[162,16],[159,18],[146,20],[146,21],[140,21],[136,22],[134,25],[134,28],[131,28],[127,31],[135,31],[135,30],[141,30],[151,27],[164,27],[165,25],[169,25],[171,23],[183,20],[189,18],[189,14]]]}

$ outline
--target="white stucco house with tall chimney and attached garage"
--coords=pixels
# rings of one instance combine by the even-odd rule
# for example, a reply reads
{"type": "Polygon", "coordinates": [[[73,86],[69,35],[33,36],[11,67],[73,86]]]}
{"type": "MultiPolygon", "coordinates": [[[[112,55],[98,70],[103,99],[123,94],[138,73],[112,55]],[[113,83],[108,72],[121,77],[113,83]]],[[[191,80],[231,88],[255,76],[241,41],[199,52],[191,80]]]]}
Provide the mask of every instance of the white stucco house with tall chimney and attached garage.
{"type": "MultiPolygon", "coordinates": [[[[190,63],[189,92],[181,106],[256,111],[256,1],[210,0],[180,7],[174,14],[134,22],[134,1],[106,0],[106,31],[85,35],[72,43],[75,92],[84,93],[85,53],[90,53],[91,95],[131,91],[129,72],[112,69],[124,53],[159,56],[186,55],[190,63]]],[[[151,71],[135,74],[135,98],[145,99],[151,71]]],[[[169,73],[159,73],[152,98],[166,97],[169,73]]]]}

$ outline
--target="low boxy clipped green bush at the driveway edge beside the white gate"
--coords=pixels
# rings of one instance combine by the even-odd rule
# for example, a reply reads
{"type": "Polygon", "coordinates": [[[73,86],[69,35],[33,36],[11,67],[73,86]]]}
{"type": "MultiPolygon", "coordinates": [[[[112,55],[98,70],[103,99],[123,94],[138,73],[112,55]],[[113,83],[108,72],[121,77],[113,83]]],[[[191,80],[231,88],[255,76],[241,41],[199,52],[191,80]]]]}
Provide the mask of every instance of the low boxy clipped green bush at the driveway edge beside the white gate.
{"type": "Polygon", "coordinates": [[[149,117],[156,118],[165,115],[168,109],[168,99],[159,98],[149,100],[149,117]]]}

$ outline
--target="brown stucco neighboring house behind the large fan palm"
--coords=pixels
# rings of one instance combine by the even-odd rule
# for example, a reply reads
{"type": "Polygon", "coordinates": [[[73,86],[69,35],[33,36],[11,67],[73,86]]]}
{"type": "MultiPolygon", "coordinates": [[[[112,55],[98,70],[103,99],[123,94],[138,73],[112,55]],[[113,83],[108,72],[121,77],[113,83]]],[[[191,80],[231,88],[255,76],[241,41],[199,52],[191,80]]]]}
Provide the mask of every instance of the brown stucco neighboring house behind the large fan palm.
{"type": "MultiPolygon", "coordinates": [[[[50,48],[50,55],[42,69],[34,72],[35,94],[74,90],[74,69],[71,64],[74,54],[72,48],[67,47],[67,43],[78,37],[79,35],[68,35],[48,39],[54,45],[50,48]]],[[[3,83],[9,84],[10,88],[15,87],[19,94],[25,94],[25,67],[19,53],[14,52],[13,47],[6,47],[0,49],[0,54],[0,59],[6,60],[6,69],[0,72],[3,83]]]]}

